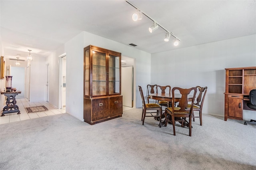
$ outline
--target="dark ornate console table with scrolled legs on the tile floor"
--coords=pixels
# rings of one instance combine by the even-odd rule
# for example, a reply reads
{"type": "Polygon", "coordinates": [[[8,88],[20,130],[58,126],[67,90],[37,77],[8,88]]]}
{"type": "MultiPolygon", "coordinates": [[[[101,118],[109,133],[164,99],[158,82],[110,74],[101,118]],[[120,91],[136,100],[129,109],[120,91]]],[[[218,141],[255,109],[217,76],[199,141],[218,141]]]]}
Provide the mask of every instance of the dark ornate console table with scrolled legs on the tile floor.
{"type": "Polygon", "coordinates": [[[16,105],[17,101],[15,99],[16,95],[18,95],[19,93],[21,93],[21,91],[11,91],[11,92],[1,91],[1,94],[7,97],[6,106],[4,107],[1,116],[5,116],[4,114],[6,113],[18,112],[17,114],[20,114],[20,110],[19,110],[19,107],[16,105]]]}

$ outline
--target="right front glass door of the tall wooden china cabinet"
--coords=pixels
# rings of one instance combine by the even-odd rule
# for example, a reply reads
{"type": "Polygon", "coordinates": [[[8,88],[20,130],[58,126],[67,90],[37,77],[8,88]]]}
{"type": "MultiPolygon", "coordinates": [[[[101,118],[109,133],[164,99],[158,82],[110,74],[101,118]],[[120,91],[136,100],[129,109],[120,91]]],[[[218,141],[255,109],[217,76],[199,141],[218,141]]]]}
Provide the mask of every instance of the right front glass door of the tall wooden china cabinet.
{"type": "Polygon", "coordinates": [[[108,94],[120,93],[120,57],[109,55],[108,59],[108,94]]]}

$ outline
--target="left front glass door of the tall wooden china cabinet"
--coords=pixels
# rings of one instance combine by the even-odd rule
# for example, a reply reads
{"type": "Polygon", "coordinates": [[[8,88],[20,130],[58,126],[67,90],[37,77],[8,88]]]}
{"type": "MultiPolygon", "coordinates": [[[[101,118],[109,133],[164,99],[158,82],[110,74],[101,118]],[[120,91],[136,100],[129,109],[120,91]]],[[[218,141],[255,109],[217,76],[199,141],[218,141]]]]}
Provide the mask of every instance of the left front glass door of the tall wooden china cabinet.
{"type": "Polygon", "coordinates": [[[92,96],[106,95],[106,53],[92,51],[92,96]]]}

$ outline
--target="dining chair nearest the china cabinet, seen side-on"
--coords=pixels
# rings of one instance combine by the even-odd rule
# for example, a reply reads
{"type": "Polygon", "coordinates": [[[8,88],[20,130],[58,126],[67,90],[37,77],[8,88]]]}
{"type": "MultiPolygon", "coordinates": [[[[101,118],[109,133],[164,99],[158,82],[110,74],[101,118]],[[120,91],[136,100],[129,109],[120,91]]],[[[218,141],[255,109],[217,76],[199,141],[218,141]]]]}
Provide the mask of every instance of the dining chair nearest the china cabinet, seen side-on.
{"type": "MultiPolygon", "coordinates": [[[[142,87],[141,86],[138,86],[138,87],[139,87],[139,91],[142,99],[142,117],[141,117],[142,125],[144,125],[145,117],[154,117],[155,119],[157,118],[160,119],[160,117],[162,117],[162,107],[157,103],[146,103],[144,99],[142,87]],[[152,112],[147,112],[147,111],[156,111],[156,112],[153,112],[153,113],[156,113],[156,115],[152,115],[152,112]],[[146,114],[150,114],[150,115],[146,115],[146,114]]],[[[161,119],[160,119],[160,123],[161,123],[161,119]]]]}

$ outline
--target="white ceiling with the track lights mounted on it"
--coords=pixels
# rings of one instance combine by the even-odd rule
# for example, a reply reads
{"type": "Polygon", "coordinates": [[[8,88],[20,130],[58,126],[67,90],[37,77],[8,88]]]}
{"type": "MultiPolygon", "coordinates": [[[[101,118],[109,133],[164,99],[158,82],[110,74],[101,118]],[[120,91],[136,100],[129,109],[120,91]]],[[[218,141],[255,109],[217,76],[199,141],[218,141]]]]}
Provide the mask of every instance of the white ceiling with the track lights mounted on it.
{"type": "Polygon", "coordinates": [[[7,58],[47,57],[82,31],[90,32],[148,53],[256,34],[255,0],[130,0],[174,38],[158,28],[148,32],[152,20],[134,22],[136,9],[125,0],[1,0],[2,47],[7,58]],[[129,45],[130,46],[130,45],[129,45]]]}

